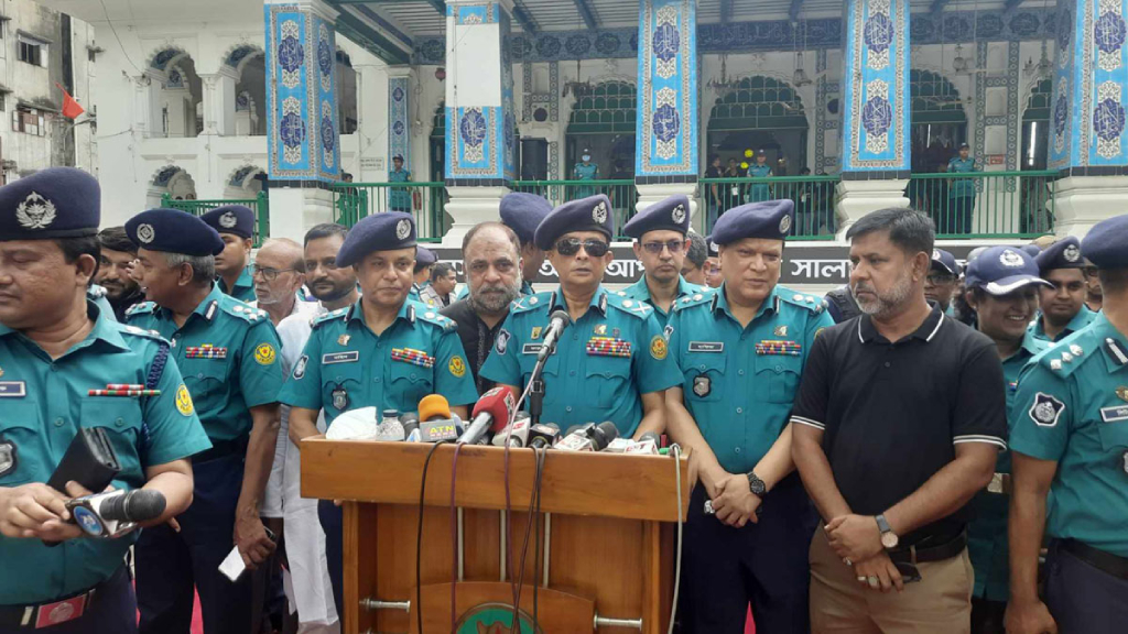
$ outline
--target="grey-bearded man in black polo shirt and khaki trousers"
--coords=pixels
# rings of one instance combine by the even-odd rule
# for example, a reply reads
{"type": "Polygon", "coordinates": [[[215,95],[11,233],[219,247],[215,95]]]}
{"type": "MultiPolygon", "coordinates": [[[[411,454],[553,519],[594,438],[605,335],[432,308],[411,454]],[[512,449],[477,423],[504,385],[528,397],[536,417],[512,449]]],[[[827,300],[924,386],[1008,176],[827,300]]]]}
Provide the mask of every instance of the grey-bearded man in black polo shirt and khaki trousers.
{"type": "Polygon", "coordinates": [[[846,236],[863,315],[814,340],[791,419],[826,520],[811,541],[812,631],[968,632],[963,509],[1006,448],[1003,369],[989,338],[925,300],[928,218],[876,211],[846,236]]]}

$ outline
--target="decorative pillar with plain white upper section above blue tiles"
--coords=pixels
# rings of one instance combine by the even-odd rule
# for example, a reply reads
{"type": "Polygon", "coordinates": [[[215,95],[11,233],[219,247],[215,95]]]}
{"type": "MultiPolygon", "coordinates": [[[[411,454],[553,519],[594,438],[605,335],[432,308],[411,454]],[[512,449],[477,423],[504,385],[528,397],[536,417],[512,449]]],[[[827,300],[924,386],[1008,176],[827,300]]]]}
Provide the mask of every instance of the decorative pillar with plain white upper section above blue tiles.
{"type": "Polygon", "coordinates": [[[517,173],[513,62],[509,46],[512,0],[447,1],[447,157],[453,226],[444,246],[486,220],[517,173]]]}

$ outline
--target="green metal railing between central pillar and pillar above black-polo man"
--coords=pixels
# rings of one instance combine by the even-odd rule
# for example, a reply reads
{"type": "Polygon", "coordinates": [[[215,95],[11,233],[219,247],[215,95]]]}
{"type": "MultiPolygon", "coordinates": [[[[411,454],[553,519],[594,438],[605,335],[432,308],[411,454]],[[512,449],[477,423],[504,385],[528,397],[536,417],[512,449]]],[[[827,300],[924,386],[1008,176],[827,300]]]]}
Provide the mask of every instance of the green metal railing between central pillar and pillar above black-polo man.
{"type": "Polygon", "coordinates": [[[795,203],[795,215],[788,239],[832,240],[838,230],[835,215],[838,180],[837,175],[702,178],[697,196],[705,206],[705,232],[712,234],[716,219],[734,206],[791,199],[795,203]]]}

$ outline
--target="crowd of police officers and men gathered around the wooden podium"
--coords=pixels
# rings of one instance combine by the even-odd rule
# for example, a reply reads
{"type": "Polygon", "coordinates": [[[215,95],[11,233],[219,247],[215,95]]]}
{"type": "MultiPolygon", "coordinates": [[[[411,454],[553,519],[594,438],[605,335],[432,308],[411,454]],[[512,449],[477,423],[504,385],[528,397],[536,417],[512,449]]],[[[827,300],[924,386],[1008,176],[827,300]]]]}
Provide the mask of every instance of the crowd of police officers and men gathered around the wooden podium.
{"type": "Polygon", "coordinates": [[[252,264],[249,209],[99,232],[76,169],[0,187],[0,633],[186,633],[195,596],[206,634],[340,632],[341,509],[301,496],[302,440],[429,394],[466,419],[525,387],[556,310],[543,419],[689,455],[681,632],[742,632],[749,605],[765,634],[1128,622],[1128,215],[961,266],[927,215],[875,211],[823,298],[778,283],[793,201],[706,238],[676,195],[622,228],[645,273],[613,291],[607,196],[513,193],[466,234],[460,297],[398,211],[252,264]],[[113,488],[166,500],[116,539],[71,521],[95,492],[46,484],[88,428],[113,488]]]}

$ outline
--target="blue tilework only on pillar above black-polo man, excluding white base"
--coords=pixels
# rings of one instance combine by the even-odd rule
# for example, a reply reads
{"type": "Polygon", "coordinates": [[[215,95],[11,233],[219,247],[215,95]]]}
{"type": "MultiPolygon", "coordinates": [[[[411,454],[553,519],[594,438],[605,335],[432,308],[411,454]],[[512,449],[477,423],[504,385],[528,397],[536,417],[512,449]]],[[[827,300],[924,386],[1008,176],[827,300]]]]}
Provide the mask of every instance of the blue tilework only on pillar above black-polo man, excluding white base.
{"type": "Polygon", "coordinates": [[[909,169],[908,14],[908,0],[846,0],[843,171],[909,169]]]}

